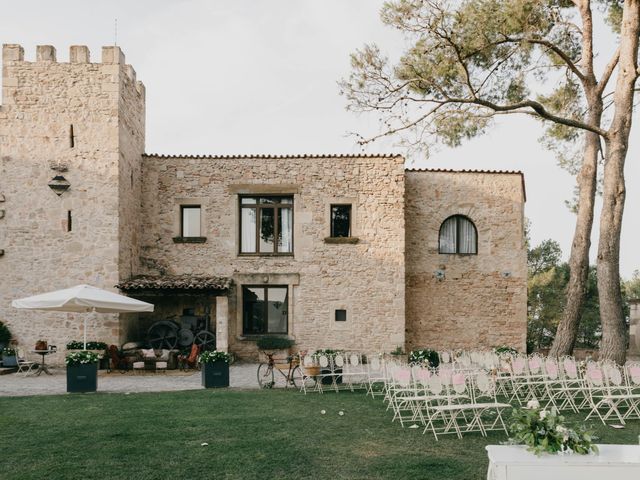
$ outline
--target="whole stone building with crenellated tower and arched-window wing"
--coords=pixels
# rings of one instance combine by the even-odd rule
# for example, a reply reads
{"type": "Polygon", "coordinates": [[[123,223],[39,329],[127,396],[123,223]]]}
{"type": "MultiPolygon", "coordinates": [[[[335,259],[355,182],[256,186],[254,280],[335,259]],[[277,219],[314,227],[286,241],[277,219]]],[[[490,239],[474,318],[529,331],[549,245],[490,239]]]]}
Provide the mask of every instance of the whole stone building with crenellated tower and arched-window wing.
{"type": "Polygon", "coordinates": [[[524,348],[521,173],[147,154],[145,89],[118,47],[91,63],[74,46],[63,63],[4,45],[2,81],[0,320],[21,344],[64,345],[82,321],[12,299],[88,283],[156,305],[91,316],[107,343],[144,341],[159,320],[188,342],[204,319],[244,357],[269,334],[300,349],[524,348]]]}

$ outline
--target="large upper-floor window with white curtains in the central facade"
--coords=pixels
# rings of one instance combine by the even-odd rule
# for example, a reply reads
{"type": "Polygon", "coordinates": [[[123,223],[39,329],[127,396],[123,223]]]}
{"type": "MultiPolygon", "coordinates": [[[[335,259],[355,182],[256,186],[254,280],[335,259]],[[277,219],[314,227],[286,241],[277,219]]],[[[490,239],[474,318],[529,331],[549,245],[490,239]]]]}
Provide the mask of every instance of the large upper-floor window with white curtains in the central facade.
{"type": "Polygon", "coordinates": [[[240,253],[293,253],[293,197],[240,197],[240,253]]]}

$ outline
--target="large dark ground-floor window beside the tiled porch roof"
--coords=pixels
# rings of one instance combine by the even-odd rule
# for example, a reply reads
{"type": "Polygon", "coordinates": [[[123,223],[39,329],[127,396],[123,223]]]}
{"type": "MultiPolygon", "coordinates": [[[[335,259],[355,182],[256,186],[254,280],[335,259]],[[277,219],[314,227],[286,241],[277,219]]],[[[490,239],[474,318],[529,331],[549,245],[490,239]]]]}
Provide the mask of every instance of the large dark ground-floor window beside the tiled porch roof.
{"type": "Polygon", "coordinates": [[[289,289],[286,286],[242,287],[244,335],[287,333],[289,289]]]}

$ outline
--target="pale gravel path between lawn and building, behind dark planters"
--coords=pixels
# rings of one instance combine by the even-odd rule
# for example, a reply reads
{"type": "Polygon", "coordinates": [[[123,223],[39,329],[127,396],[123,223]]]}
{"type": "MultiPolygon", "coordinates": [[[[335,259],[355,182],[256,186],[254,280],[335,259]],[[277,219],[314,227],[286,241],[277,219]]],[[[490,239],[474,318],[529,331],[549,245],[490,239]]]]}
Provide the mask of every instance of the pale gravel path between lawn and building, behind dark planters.
{"type": "MultiPolygon", "coordinates": [[[[258,388],[254,363],[235,363],[229,371],[231,388],[258,388]]],[[[17,397],[26,395],[60,395],[67,389],[64,368],[51,368],[53,375],[40,376],[24,374],[0,375],[0,397],[17,397]]],[[[283,387],[280,379],[277,387],[283,387]]],[[[200,390],[200,372],[181,372],[169,370],[166,373],[107,373],[100,370],[98,374],[98,391],[111,393],[126,392],[169,392],[178,390],[200,390]]]]}

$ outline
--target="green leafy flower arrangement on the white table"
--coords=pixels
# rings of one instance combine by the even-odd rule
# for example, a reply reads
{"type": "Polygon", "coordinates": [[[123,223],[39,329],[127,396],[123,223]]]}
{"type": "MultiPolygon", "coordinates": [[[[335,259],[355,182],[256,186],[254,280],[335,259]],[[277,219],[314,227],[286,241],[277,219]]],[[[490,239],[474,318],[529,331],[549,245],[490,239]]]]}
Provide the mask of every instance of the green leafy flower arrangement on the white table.
{"type": "Polygon", "coordinates": [[[598,453],[593,443],[596,437],[584,426],[570,428],[562,415],[553,410],[541,409],[537,400],[531,400],[527,408],[514,409],[509,424],[510,444],[526,445],[527,450],[542,453],[598,453]]]}

